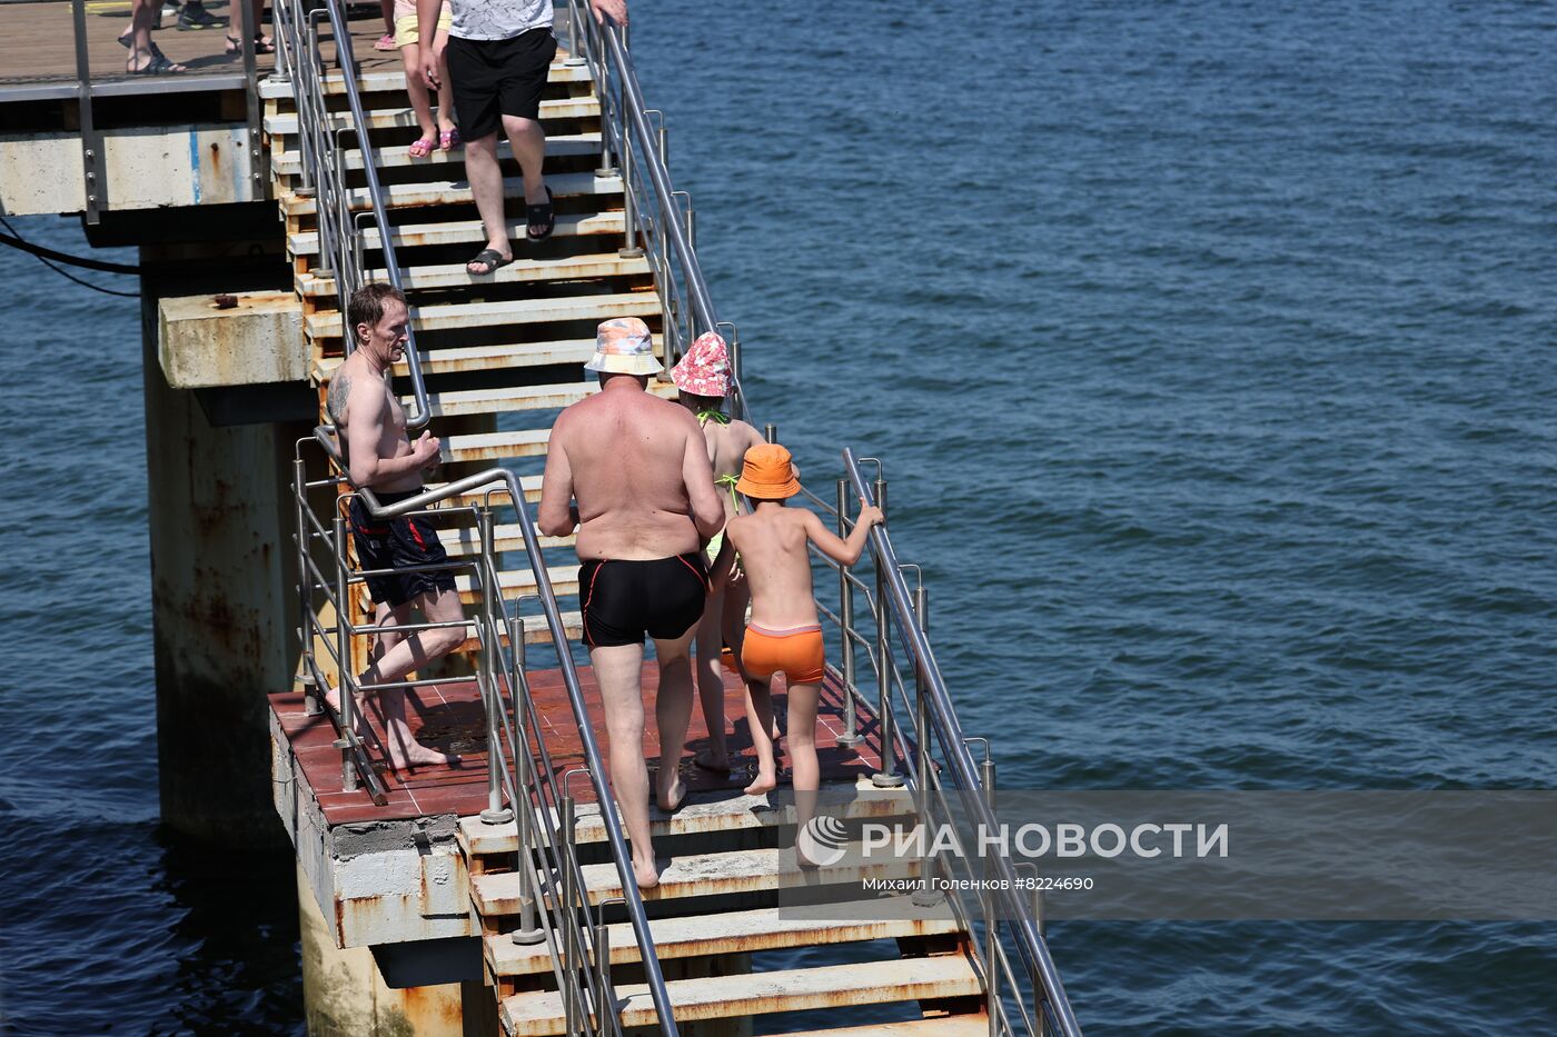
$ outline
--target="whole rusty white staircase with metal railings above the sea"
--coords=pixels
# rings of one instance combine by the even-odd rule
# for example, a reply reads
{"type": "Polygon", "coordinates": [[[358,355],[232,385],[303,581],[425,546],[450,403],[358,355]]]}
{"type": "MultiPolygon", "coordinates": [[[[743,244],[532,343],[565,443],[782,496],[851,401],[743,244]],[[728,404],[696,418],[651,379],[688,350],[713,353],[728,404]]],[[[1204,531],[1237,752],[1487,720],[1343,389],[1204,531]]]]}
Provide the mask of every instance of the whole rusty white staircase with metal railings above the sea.
{"type": "MultiPolygon", "coordinates": [[[[540,537],[529,504],[539,498],[556,411],[595,391],[581,364],[593,352],[599,321],[643,318],[666,367],[696,333],[719,329],[736,358],[736,386],[740,336],[713,311],[690,199],[671,188],[663,120],[645,107],[623,30],[595,26],[581,0],[559,12],[565,45],[542,101],[557,229],[536,244],[525,240],[523,221],[512,221],[515,262],[494,277],[472,277],[464,262],[483,235],[462,184],[462,153],[406,154],[417,129],[403,73],[357,69],[347,28],[341,0],[311,9],[285,0],[277,6],[283,61],[262,84],[274,195],[286,221],[321,420],[347,347],[343,299],[366,280],[391,280],[411,301],[411,343],[397,369],[411,389],[408,422],[420,428],[438,419],[442,481],[419,498],[378,508],[372,494],[346,481],[329,427],[299,445],[305,657],[316,687],[361,665],[367,626],[341,501],[358,494],[378,515],[436,506],[430,514],[445,526],[441,537],[459,570],[461,601],[473,612],[464,651],[489,713],[489,808],[462,817],[459,838],[503,1029],[620,1034],[648,1026],[676,1034],[677,1023],[902,1003],[911,1006],[906,1021],[825,1032],[1037,1034],[1048,1025],[1079,1034],[1031,905],[1020,897],[996,903],[990,895],[978,905],[953,897],[937,917],[873,903],[856,917],[845,911],[808,919],[777,906],[782,891],[858,884],[869,870],[850,864],[799,872],[793,850],[783,849],[793,845],[783,793],[655,814],[655,842],[674,847],[673,861],[662,884],[640,895],[567,646],[579,632],[576,604],[559,603],[578,592],[573,537],[540,537]],[[322,464],[310,470],[316,447],[322,464]],[[329,498],[322,509],[321,495],[329,498]],[[325,562],[313,561],[319,557],[325,562]],[[522,617],[522,603],[539,603],[539,617],[529,604],[522,617]],[[579,775],[553,766],[531,701],[539,671],[526,659],[528,643],[557,649],[554,666],[585,746],[582,777],[598,805],[575,797],[570,779],[579,775]],[[1012,914],[1021,922],[998,920],[1012,914]],[[877,942],[887,939],[897,942],[895,953],[883,959],[877,942]],[[803,947],[830,948],[828,964],[760,967],[766,951],[803,947]]],[[[501,156],[515,171],[506,145],[501,156]]],[[[522,210],[517,176],[506,187],[512,209],[522,210]]],[[[668,381],[651,383],[651,391],[674,392],[668,381]]],[[[733,406],[746,410],[738,388],[733,406]]],[[[839,503],[884,494],[880,480],[873,487],[863,481],[852,456],[845,464],[856,486],[841,481],[839,503]]],[[[836,508],[813,503],[847,528],[836,508]]],[[[839,570],[836,607],[824,612],[845,645],[844,666],[831,677],[847,699],[850,730],[863,726],[864,713],[877,718],[886,761],[859,788],[825,786],[822,802],[844,817],[889,811],[926,821],[934,807],[923,793],[933,789],[978,808],[993,772],[975,768],[939,685],[923,634],[923,595],[917,604],[911,599],[881,529],[872,534],[872,554],[875,585],[839,570]],[[863,606],[858,624],[855,603],[863,606]],[[856,663],[875,674],[873,699],[856,685],[856,663]],[[903,794],[881,794],[894,786],[903,794]]],[[[350,696],[343,702],[346,716],[335,719],[347,786],[375,794],[378,779],[353,732],[350,696]]],[[[920,861],[870,867],[880,877],[905,877],[917,874],[920,861]]],[[[740,1029],[715,1025],[708,1032],[740,1029]]]]}

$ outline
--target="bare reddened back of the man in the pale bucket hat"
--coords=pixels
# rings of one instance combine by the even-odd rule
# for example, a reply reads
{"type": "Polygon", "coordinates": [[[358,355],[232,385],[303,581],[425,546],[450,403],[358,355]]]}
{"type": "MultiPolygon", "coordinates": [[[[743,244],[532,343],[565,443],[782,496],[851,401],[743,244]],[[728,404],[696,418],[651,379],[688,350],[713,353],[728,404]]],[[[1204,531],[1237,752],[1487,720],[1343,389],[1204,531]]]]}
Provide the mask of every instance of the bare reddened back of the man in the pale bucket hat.
{"type": "Polygon", "coordinates": [[[685,469],[688,444],[699,455],[705,447],[684,408],[643,391],[604,391],[564,411],[551,434],[579,506],[581,559],[699,550],[685,469]]]}

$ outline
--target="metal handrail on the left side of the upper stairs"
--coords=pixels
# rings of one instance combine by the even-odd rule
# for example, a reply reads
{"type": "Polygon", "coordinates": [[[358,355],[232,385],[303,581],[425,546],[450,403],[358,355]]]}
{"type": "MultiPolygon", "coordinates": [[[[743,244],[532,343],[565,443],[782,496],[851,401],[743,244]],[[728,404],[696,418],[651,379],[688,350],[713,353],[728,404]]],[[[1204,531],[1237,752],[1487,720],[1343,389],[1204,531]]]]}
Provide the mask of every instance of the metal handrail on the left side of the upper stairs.
{"type": "MultiPolygon", "coordinates": [[[[357,349],[357,335],[349,325],[347,304],[352,293],[366,283],[361,257],[367,249],[367,237],[363,227],[363,215],[372,216],[371,223],[378,232],[378,249],[383,254],[385,274],[389,283],[402,293],[405,288],[400,279],[400,263],[395,258],[388,209],[383,201],[383,187],[378,182],[377,163],[372,157],[367,117],[363,109],[361,92],[357,89],[357,56],[352,53],[352,33],[347,26],[343,5],[344,0],[322,0],[322,5],[313,0],[277,0],[274,5],[274,20],[276,36],[282,40],[277,64],[280,65],[280,75],[291,79],[293,100],[297,104],[297,140],[304,165],[304,184],[316,192],[319,254],[333,258],[332,274],[339,297],[341,341],[346,355],[350,357],[357,349]],[[333,134],[329,131],[332,112],[324,101],[324,54],[319,48],[321,14],[330,22],[336,64],[341,67],[346,103],[352,117],[350,126],[333,134]],[[367,181],[369,201],[366,213],[352,213],[341,148],[325,146],[325,137],[333,135],[338,143],[341,134],[353,135],[358,149],[363,153],[363,174],[367,181]]],[[[431,422],[433,414],[427,399],[427,381],[422,377],[422,357],[416,347],[416,332],[409,321],[406,321],[405,335],[405,364],[411,377],[413,399],[413,408],[406,414],[405,424],[408,430],[417,431],[431,422]]]]}

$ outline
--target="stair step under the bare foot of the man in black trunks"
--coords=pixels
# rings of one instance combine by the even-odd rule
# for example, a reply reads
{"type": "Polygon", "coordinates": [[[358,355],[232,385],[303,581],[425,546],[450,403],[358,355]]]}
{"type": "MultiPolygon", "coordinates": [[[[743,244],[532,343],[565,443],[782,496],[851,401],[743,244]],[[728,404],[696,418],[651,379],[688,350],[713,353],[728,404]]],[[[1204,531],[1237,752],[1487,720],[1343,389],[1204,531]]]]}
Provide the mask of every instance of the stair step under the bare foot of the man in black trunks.
{"type": "MultiPolygon", "coordinates": [[[[861,863],[858,856],[858,853],[850,853],[850,858],[855,858],[855,863],[850,864],[802,872],[794,864],[794,847],[688,853],[673,858],[660,872],[660,884],[654,889],[645,889],[643,898],[680,900],[685,897],[766,892],[794,886],[858,883],[863,878],[911,878],[919,874],[920,861],[917,858],[892,855],[861,863]]],[[[621,895],[621,877],[613,863],[584,864],[582,872],[590,903],[621,895]]],[[[472,875],[470,898],[481,917],[517,914],[520,908],[518,874],[472,875]]]]}

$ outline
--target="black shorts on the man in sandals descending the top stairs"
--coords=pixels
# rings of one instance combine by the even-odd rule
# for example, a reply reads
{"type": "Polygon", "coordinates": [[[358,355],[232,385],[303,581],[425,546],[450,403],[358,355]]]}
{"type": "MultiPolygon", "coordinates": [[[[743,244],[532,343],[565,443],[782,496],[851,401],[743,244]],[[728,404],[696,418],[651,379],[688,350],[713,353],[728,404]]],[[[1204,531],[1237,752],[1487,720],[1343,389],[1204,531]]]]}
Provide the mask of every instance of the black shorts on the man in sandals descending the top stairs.
{"type": "Polygon", "coordinates": [[[557,54],[550,26],[511,39],[448,37],[448,79],[459,135],[480,140],[503,129],[503,115],[540,117],[540,92],[557,54]]]}

